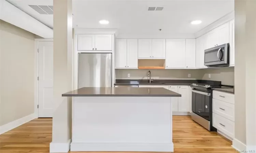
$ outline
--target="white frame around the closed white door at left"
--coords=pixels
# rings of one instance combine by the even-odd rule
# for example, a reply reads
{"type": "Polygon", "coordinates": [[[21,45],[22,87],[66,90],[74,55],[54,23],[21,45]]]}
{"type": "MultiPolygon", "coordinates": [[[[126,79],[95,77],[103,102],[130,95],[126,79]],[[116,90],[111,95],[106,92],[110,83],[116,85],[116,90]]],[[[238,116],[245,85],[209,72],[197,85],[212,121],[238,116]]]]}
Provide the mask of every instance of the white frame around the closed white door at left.
{"type": "Polygon", "coordinates": [[[39,81],[37,80],[39,76],[39,42],[40,41],[53,41],[53,39],[35,39],[35,45],[34,45],[34,116],[35,118],[38,118],[39,111],[37,108],[37,105],[39,103],[39,81]]]}

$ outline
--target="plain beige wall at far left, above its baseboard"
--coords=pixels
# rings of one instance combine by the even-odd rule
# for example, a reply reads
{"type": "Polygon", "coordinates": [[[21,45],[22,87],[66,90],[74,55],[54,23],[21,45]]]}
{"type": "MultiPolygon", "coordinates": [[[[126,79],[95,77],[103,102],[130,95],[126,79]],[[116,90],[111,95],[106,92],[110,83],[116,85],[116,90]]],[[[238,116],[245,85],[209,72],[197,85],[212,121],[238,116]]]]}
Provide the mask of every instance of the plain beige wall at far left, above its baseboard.
{"type": "Polygon", "coordinates": [[[34,37],[0,20],[0,126],[34,113],[34,37]]]}

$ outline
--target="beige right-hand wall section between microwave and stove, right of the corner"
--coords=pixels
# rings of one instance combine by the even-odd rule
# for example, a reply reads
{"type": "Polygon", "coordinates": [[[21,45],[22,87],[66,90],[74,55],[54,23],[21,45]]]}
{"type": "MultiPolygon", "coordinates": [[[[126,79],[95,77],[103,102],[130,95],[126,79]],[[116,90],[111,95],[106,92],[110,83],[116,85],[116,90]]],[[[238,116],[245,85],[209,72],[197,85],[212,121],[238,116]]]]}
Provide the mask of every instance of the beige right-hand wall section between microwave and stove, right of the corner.
{"type": "Polygon", "coordinates": [[[223,85],[234,85],[234,67],[202,69],[201,73],[203,73],[202,80],[221,81],[223,85]]]}

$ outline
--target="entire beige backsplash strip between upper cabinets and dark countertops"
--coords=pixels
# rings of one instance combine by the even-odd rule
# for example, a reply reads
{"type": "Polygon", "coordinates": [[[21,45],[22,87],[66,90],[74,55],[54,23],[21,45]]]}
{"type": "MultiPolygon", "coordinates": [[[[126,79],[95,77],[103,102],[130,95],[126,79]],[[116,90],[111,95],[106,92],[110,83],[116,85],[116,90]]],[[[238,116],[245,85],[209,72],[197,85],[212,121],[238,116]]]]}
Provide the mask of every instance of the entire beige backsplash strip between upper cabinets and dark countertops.
{"type": "MultiPolygon", "coordinates": [[[[234,67],[212,69],[152,69],[153,79],[199,79],[221,81],[225,85],[234,85],[234,67]],[[191,74],[191,78],[188,78],[191,74]],[[209,74],[211,75],[209,78],[209,74]]],[[[148,69],[116,69],[116,79],[148,79],[148,69]],[[130,74],[130,77],[128,77],[130,74]]]]}

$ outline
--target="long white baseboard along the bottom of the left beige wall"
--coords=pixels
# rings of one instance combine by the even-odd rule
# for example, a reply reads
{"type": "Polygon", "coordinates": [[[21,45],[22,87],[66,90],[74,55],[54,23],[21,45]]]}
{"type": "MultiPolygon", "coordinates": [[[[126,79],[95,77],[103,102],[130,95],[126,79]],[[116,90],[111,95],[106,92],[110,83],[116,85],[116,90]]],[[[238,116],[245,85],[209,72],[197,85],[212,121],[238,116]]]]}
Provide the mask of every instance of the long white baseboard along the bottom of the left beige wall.
{"type": "Polygon", "coordinates": [[[10,130],[14,129],[14,128],[17,128],[18,126],[20,126],[24,123],[27,123],[27,122],[35,119],[35,118],[36,118],[35,114],[33,113],[33,114],[30,114],[30,115],[25,116],[23,118],[12,121],[10,123],[4,124],[4,125],[0,126],[0,134],[3,134],[7,131],[10,131],[10,130]]]}

